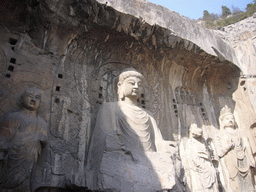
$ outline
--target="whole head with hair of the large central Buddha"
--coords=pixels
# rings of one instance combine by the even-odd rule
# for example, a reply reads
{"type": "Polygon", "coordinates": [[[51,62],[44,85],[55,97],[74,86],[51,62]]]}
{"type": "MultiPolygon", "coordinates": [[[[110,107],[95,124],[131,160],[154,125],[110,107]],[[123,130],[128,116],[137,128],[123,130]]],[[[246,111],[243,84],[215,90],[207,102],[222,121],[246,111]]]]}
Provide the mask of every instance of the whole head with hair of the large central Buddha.
{"type": "Polygon", "coordinates": [[[133,68],[127,68],[119,75],[117,88],[118,99],[125,100],[129,98],[137,100],[142,92],[143,75],[133,68]]]}

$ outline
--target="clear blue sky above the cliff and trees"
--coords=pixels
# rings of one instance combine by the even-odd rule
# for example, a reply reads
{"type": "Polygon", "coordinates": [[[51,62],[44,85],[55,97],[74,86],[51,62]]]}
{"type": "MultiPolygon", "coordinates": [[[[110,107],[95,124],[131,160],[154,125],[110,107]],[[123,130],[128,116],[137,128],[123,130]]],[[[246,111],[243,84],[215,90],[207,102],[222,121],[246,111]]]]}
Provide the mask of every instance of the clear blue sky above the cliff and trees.
{"type": "Polygon", "coordinates": [[[227,6],[232,11],[232,5],[245,11],[246,5],[253,0],[148,0],[162,5],[190,19],[203,17],[203,11],[221,14],[221,6],[227,6]]]}

